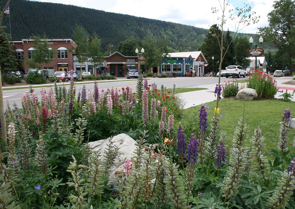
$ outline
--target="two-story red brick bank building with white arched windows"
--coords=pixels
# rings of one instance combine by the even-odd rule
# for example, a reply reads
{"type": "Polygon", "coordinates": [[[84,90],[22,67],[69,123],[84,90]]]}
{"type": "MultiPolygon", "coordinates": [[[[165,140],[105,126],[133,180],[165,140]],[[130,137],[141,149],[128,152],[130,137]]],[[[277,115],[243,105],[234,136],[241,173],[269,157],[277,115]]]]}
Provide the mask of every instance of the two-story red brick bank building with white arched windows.
{"type": "MultiPolygon", "coordinates": [[[[22,39],[22,41],[11,42],[17,59],[19,60],[18,69],[23,72],[28,72],[31,68],[27,66],[25,58],[30,59],[32,56],[33,39],[22,39]]],[[[70,71],[73,69],[73,54],[72,47],[76,47],[72,39],[47,39],[51,49],[53,49],[53,61],[44,64],[44,69],[52,76],[56,71],[70,71]]]]}

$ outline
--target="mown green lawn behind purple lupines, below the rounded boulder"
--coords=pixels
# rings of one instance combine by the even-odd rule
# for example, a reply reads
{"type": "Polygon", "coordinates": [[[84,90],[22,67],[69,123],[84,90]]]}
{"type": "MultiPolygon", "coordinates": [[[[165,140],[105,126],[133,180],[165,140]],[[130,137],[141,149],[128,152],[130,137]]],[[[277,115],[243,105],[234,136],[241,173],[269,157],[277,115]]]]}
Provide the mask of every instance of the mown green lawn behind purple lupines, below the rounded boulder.
{"type": "MultiPolygon", "coordinates": [[[[209,102],[206,105],[210,106],[208,111],[208,122],[211,123],[211,119],[214,114],[214,107],[216,102],[209,102]]],[[[278,99],[274,100],[255,100],[255,101],[240,101],[235,99],[222,99],[219,102],[220,114],[223,115],[219,120],[219,127],[227,133],[227,142],[230,145],[232,140],[237,121],[240,117],[243,117],[245,105],[244,119],[248,124],[247,141],[246,145],[250,145],[249,139],[253,136],[255,128],[260,126],[262,135],[266,138],[266,148],[268,151],[271,149],[277,149],[278,136],[280,133],[281,119],[283,117],[284,109],[290,109],[291,115],[295,116],[295,102],[284,102],[278,99]]],[[[199,122],[199,109],[201,105],[191,107],[184,111],[184,118],[181,119],[184,130],[193,124],[198,126],[199,122]]],[[[179,121],[176,121],[179,122],[179,121]]],[[[178,124],[178,123],[176,123],[178,124]]],[[[209,130],[208,126],[208,130],[209,130]]],[[[187,129],[188,130],[188,129],[187,129]]],[[[292,148],[294,140],[295,130],[289,128],[289,149],[292,148]]],[[[185,132],[186,135],[191,133],[185,132]]],[[[195,133],[197,135],[197,133],[195,133]]],[[[265,153],[268,155],[268,153],[265,153]]]]}

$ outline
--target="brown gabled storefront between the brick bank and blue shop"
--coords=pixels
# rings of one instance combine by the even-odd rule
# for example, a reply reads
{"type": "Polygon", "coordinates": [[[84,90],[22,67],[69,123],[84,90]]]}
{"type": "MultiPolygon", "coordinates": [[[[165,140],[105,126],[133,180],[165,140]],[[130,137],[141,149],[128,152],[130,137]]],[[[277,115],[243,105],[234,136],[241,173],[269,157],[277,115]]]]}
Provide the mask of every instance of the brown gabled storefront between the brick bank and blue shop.
{"type": "Polygon", "coordinates": [[[138,70],[137,56],[124,56],[119,52],[114,52],[108,57],[105,57],[109,74],[115,77],[125,77],[131,69],[138,70]]]}

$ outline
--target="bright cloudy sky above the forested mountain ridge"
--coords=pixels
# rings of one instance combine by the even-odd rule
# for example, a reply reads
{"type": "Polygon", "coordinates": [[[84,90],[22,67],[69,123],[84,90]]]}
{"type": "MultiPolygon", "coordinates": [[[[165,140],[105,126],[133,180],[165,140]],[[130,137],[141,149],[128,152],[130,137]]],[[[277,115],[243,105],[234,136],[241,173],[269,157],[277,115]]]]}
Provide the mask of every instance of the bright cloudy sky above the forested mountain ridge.
{"type": "MultiPolygon", "coordinates": [[[[170,21],[199,28],[209,29],[212,24],[219,24],[218,17],[221,16],[220,4],[218,0],[35,0],[40,2],[52,2],[69,4],[91,9],[129,14],[133,16],[170,21]],[[217,14],[212,14],[212,7],[218,9],[217,14]]],[[[220,0],[222,1],[222,0],[220,0]]],[[[243,8],[244,3],[250,4],[252,11],[260,16],[258,23],[250,24],[246,27],[239,27],[242,33],[257,33],[259,27],[268,26],[267,14],[273,9],[273,0],[226,0],[229,5],[226,13],[233,9],[232,14],[236,14],[235,8],[243,8]]],[[[222,1],[223,3],[223,1],[222,1]]],[[[227,21],[225,30],[236,31],[234,21],[227,21]]]]}

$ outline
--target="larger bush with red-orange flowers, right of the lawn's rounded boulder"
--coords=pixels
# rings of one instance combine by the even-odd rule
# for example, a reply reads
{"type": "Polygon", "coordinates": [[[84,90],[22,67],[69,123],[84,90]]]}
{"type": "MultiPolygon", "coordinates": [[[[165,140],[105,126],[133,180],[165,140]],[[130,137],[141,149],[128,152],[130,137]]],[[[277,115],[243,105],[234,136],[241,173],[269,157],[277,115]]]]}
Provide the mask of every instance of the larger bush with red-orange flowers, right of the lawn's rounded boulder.
{"type": "Polygon", "coordinates": [[[276,95],[276,81],[273,76],[255,70],[248,79],[248,88],[255,89],[258,98],[272,99],[276,95]]]}

